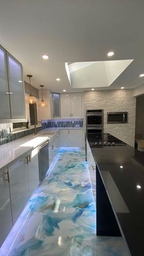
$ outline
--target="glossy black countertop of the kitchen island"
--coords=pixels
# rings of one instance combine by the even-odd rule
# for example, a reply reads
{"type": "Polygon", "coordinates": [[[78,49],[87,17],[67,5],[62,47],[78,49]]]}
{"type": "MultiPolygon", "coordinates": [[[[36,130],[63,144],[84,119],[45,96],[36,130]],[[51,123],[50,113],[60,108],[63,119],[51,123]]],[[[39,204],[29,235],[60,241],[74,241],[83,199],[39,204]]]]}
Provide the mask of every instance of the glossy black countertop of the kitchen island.
{"type": "Polygon", "coordinates": [[[129,251],[143,256],[144,153],[129,145],[91,150],[129,251]]]}

